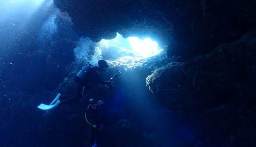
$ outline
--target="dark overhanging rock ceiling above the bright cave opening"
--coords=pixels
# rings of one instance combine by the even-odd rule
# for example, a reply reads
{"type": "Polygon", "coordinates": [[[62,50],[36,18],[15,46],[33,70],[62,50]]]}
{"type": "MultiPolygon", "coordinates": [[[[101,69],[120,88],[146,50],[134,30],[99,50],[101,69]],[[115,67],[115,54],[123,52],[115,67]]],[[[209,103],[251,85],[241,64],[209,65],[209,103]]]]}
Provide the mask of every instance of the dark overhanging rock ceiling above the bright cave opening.
{"type": "Polygon", "coordinates": [[[54,0],[72,18],[73,29],[98,42],[150,37],[167,57],[192,58],[237,40],[256,25],[252,0],[54,0]]]}

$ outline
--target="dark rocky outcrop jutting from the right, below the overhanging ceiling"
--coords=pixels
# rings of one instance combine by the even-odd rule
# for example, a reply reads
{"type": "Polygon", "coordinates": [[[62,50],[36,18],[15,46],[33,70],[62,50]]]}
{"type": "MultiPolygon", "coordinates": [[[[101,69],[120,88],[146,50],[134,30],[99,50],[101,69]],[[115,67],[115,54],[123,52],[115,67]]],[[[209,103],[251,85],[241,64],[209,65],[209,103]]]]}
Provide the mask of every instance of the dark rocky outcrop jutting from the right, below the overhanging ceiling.
{"type": "Polygon", "coordinates": [[[185,63],[170,63],[147,77],[150,90],[169,109],[192,118],[206,138],[230,147],[253,144],[255,82],[256,29],[236,42],[185,63]]]}

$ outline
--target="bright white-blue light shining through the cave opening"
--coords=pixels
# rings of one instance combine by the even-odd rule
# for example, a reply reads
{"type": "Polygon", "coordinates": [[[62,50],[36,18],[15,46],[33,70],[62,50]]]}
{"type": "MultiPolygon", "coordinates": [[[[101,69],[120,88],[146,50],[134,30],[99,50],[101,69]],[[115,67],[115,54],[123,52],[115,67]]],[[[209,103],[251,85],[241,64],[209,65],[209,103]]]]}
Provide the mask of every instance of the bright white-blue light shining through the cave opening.
{"type": "Polygon", "coordinates": [[[147,58],[157,55],[161,51],[157,42],[152,41],[150,38],[141,40],[137,37],[128,37],[125,39],[119,33],[112,40],[102,39],[99,44],[103,47],[103,52],[104,50],[108,50],[109,53],[115,53],[116,57],[131,56],[147,58]]]}

